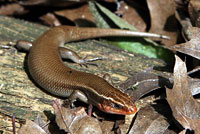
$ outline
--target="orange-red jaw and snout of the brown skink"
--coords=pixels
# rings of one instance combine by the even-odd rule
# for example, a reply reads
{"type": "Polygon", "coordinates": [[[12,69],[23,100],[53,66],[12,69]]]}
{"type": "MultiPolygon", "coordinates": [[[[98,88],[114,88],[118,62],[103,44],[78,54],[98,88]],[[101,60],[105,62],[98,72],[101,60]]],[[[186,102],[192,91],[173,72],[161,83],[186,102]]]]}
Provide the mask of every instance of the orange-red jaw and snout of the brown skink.
{"type": "Polygon", "coordinates": [[[98,104],[98,108],[101,111],[106,112],[106,113],[121,114],[121,115],[130,115],[130,114],[134,114],[137,112],[136,106],[130,106],[128,108],[126,107],[126,108],[116,109],[109,105],[98,104]]]}

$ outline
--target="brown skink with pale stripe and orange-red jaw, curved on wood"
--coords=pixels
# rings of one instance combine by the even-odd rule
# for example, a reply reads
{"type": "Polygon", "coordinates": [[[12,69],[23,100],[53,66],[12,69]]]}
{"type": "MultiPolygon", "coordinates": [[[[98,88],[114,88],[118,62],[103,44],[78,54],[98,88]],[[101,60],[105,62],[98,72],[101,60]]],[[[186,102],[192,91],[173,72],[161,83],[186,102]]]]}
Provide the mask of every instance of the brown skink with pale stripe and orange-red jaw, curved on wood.
{"type": "MultiPolygon", "coordinates": [[[[28,68],[32,78],[53,95],[68,97],[71,101],[79,99],[107,113],[135,113],[137,108],[129,95],[114,88],[103,78],[67,67],[60,57],[61,46],[66,42],[105,36],[140,35],[118,29],[54,27],[33,42],[28,55],[28,68]]],[[[74,61],[79,58],[70,50],[67,55],[74,61]]]]}

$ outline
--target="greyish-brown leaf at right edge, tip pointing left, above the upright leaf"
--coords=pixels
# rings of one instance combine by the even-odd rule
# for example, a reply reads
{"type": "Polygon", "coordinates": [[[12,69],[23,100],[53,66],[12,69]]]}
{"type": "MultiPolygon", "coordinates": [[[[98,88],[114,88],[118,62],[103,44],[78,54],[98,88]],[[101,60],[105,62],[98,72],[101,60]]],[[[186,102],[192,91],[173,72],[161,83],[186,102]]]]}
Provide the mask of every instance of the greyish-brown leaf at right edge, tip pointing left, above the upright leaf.
{"type": "Polygon", "coordinates": [[[200,28],[189,27],[188,31],[190,33],[189,38],[191,38],[191,40],[185,43],[177,44],[173,46],[173,49],[200,59],[200,28]]]}

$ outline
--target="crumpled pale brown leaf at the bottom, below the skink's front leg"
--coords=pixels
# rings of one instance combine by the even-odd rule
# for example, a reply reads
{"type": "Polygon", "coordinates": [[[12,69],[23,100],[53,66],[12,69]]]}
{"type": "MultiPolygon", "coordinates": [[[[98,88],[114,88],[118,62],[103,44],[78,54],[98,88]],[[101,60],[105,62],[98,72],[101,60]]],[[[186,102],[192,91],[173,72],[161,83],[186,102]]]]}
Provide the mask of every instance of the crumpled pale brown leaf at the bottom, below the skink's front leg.
{"type": "Polygon", "coordinates": [[[59,100],[54,101],[53,108],[56,115],[56,123],[60,129],[72,134],[102,134],[98,120],[89,117],[84,108],[65,108],[59,100]]]}

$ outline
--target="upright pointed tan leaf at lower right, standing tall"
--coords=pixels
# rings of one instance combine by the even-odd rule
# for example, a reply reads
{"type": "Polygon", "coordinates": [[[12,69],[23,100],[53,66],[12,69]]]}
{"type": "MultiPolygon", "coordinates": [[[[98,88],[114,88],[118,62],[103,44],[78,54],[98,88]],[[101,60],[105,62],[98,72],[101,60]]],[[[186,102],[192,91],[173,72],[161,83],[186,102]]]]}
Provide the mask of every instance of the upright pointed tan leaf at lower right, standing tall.
{"type": "Polygon", "coordinates": [[[167,89],[167,101],[173,111],[173,116],[185,128],[200,132],[200,103],[192,96],[188,87],[187,69],[185,63],[175,56],[174,86],[167,89]]]}

